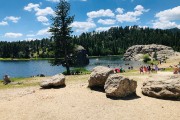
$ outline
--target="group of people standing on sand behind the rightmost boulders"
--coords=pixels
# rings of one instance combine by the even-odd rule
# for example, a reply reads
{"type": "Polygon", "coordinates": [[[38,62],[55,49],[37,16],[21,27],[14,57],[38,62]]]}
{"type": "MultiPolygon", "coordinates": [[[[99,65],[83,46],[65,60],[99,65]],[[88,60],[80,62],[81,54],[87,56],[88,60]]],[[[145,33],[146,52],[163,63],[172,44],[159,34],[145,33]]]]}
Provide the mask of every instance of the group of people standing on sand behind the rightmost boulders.
{"type": "Polygon", "coordinates": [[[159,70],[157,65],[147,65],[147,66],[141,66],[139,68],[139,72],[140,74],[144,74],[144,73],[150,73],[152,71],[157,72],[159,70]]]}

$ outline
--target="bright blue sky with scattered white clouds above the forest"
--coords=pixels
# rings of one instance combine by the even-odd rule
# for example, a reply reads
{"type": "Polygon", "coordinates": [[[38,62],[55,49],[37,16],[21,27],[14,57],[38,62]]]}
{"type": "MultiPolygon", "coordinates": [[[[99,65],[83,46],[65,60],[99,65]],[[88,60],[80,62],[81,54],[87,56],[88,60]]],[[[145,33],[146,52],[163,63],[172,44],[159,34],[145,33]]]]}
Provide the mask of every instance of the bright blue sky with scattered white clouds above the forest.
{"type": "MultiPolygon", "coordinates": [[[[51,36],[51,16],[58,0],[0,0],[0,41],[51,36]]],[[[113,26],[180,28],[179,0],[68,0],[73,34],[103,31],[113,26]]]]}

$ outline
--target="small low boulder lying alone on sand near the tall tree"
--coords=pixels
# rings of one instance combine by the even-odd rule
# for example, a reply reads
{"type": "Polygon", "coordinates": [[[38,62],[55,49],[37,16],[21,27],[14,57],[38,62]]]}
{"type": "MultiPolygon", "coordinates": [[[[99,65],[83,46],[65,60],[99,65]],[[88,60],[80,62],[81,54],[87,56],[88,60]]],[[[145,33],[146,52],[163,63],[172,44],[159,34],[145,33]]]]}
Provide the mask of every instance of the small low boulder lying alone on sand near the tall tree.
{"type": "Polygon", "coordinates": [[[65,86],[65,76],[63,74],[57,74],[50,79],[44,80],[40,83],[42,88],[52,88],[65,86]]]}

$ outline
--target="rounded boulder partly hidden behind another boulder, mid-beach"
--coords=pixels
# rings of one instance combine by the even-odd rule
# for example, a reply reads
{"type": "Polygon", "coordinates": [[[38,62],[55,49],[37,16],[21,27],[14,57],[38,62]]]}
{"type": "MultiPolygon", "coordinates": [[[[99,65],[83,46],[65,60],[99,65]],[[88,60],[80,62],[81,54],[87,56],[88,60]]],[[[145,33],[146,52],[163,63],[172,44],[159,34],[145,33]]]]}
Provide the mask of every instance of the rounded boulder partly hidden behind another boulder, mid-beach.
{"type": "Polygon", "coordinates": [[[113,74],[113,69],[104,66],[97,66],[93,69],[89,77],[88,87],[100,86],[104,87],[104,84],[110,74],[113,74]]]}

